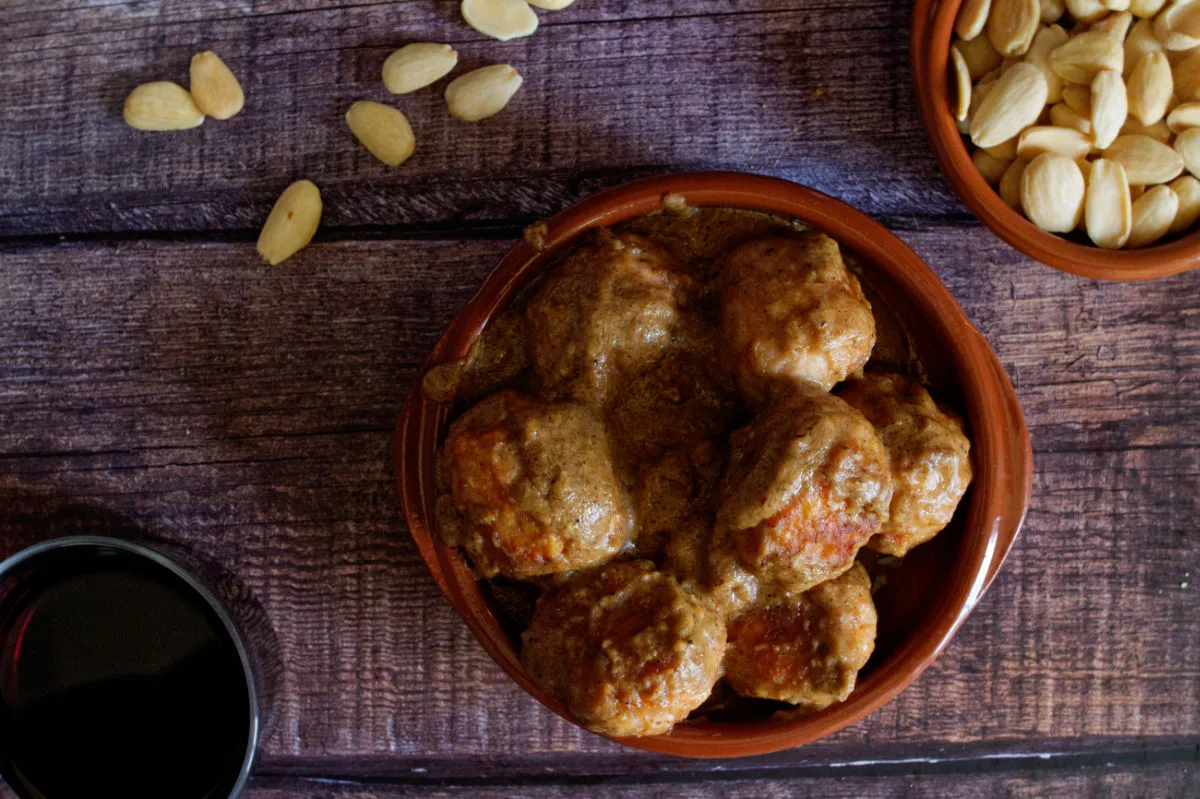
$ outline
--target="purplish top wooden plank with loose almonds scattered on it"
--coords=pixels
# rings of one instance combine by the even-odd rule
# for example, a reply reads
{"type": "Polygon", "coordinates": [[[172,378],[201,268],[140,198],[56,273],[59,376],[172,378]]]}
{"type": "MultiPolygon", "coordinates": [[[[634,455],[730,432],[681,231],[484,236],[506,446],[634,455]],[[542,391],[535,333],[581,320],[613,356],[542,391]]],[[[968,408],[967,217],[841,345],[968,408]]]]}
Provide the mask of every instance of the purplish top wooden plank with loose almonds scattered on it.
{"type": "Polygon", "coordinates": [[[485,40],[450,2],[104,2],[0,8],[0,236],[257,230],[278,192],[310,178],[326,233],[529,221],[599,187],[673,169],[770,173],[871,214],[961,214],[917,120],[910,4],[862,0],[595,0],[538,35],[485,40]],[[386,94],[379,68],[413,40],[452,42],[463,65],[526,76],[479,125],[440,88],[386,94]],[[145,133],[121,122],[137,84],[186,82],[220,52],[246,110],[145,133]],[[401,169],[346,127],[350,102],[402,108],[418,151],[401,169]]]}

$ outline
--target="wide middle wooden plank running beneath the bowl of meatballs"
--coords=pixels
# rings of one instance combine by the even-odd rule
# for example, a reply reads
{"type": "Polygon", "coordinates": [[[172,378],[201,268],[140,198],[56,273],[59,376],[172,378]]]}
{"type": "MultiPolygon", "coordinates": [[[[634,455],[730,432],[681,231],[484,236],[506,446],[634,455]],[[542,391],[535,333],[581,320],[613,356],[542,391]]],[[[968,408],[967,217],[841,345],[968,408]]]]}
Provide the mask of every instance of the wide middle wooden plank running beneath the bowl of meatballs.
{"type": "MultiPolygon", "coordinates": [[[[1200,276],[1097,284],[1030,264],[978,227],[904,235],[1018,378],[1034,504],[934,667],[864,722],[770,763],[1003,752],[1018,738],[1033,751],[1194,741],[1200,276]]],[[[394,414],[505,246],[320,244],[278,269],[248,244],[0,252],[5,552],[127,521],[241,576],[284,660],[271,769],[474,758],[504,773],[564,752],[581,769],[682,768],[582,733],[516,689],[404,535],[394,414]]]]}

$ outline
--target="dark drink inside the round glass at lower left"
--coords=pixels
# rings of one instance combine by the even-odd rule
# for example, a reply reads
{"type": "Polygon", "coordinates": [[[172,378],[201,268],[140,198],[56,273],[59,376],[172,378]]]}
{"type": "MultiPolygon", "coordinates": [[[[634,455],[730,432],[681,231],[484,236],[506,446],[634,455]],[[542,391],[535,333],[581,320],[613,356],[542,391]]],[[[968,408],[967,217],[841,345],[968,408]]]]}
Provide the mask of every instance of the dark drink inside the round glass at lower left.
{"type": "Polygon", "coordinates": [[[5,779],[47,799],[227,797],[251,711],[212,608],[132,553],[32,563],[0,600],[5,779]]]}

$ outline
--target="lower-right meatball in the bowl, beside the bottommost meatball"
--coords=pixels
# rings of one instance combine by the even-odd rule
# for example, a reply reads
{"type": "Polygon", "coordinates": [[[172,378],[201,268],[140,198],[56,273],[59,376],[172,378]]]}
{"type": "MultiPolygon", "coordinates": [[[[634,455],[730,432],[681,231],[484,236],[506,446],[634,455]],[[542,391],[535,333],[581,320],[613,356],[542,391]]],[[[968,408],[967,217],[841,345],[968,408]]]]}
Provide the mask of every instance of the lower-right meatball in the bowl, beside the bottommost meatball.
{"type": "Polygon", "coordinates": [[[773,594],[730,620],[725,677],[742,696],[821,710],[854,690],[877,619],[860,564],[803,594],[773,594]]]}

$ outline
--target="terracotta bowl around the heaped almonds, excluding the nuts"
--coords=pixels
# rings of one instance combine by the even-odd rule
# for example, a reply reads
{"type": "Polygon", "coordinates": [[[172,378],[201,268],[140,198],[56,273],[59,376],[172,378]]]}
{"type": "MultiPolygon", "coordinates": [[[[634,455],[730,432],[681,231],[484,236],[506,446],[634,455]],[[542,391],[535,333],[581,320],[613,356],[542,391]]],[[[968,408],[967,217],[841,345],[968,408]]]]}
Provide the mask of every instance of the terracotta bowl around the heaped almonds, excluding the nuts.
{"type": "Polygon", "coordinates": [[[947,68],[960,5],[962,0],[917,0],[910,55],[917,102],[934,154],[954,191],[974,215],[1030,258],[1073,275],[1144,281],[1200,266],[1200,232],[1141,250],[1100,250],[1046,233],[1004,204],[971,162],[950,110],[947,68]]]}

